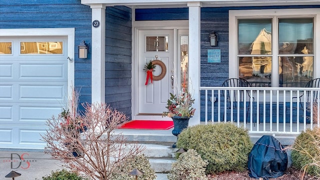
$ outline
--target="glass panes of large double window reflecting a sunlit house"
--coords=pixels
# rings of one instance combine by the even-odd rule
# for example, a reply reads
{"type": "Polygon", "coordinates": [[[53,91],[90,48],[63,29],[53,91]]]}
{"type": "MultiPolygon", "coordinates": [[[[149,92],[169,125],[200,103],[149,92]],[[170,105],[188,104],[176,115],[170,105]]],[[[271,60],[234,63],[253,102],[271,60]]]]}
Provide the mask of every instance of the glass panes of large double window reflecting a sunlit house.
{"type": "Polygon", "coordinates": [[[272,86],[271,79],[276,78],[278,84],[273,86],[304,87],[314,72],[313,21],[312,17],[279,18],[273,44],[272,19],[238,19],[239,77],[251,86],[272,86]],[[272,54],[275,47],[277,54],[272,54]]]}

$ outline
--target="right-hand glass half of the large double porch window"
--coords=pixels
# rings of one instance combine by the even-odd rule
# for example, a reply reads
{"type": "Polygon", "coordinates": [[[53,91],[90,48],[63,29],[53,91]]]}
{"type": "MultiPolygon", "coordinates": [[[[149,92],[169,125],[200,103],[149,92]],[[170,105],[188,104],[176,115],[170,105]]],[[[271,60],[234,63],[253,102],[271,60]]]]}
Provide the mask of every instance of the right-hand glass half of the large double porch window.
{"type": "Polygon", "coordinates": [[[278,26],[279,86],[304,87],[313,78],[313,18],[280,18],[278,26]]]}

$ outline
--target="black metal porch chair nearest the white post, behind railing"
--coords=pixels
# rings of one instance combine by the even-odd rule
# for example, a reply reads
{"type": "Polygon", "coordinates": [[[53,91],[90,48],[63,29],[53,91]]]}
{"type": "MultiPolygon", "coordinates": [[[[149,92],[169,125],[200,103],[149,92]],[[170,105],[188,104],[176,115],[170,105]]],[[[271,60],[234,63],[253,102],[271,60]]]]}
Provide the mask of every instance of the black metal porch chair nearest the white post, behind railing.
{"type": "MultiPolygon", "coordinates": [[[[242,78],[229,78],[226,79],[223,83],[222,83],[222,87],[251,87],[250,83],[242,78]]],[[[254,101],[254,97],[250,96],[249,91],[246,91],[246,94],[244,94],[244,90],[240,90],[239,91],[239,97],[238,97],[238,93],[237,90],[226,90],[226,94],[225,91],[222,90],[222,95],[226,97],[226,108],[227,109],[231,109],[231,105],[233,107],[233,109],[237,108],[237,103],[233,103],[233,102],[240,102],[240,107],[239,108],[246,108],[246,119],[245,121],[247,121],[248,118],[248,112],[250,109],[250,101],[251,98],[254,101]],[[246,106],[246,102],[244,101],[244,96],[248,97],[248,100],[246,100],[247,106],[246,106]],[[232,96],[232,102],[231,102],[231,96],[232,96]],[[231,104],[232,103],[232,104],[231,104]],[[241,107],[241,104],[243,104],[243,106],[241,107]]],[[[223,119],[224,119],[224,113],[223,113],[223,119]]]]}

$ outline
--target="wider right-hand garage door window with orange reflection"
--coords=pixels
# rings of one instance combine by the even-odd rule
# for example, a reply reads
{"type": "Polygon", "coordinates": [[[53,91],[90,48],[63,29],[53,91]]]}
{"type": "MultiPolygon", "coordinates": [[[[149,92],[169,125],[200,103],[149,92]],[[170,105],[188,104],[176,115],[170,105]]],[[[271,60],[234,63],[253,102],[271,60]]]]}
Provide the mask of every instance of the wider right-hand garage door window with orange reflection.
{"type": "Polygon", "coordinates": [[[62,54],[62,42],[20,42],[21,54],[62,54]]]}

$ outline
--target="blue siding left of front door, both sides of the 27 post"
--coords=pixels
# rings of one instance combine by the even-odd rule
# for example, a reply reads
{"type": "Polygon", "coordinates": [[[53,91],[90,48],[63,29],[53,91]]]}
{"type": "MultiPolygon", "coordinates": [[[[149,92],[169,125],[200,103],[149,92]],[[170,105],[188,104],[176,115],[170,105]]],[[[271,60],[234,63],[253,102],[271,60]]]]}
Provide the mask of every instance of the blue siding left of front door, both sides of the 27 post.
{"type": "MultiPolygon", "coordinates": [[[[91,102],[91,8],[80,0],[2,0],[0,28],[75,28],[75,88],[80,103],[91,102]],[[81,40],[87,59],[78,58],[81,40]]],[[[131,9],[106,7],[105,101],[131,116],[131,9]]],[[[80,106],[80,110],[83,110],[80,106]]]]}

